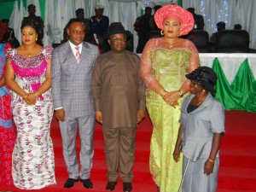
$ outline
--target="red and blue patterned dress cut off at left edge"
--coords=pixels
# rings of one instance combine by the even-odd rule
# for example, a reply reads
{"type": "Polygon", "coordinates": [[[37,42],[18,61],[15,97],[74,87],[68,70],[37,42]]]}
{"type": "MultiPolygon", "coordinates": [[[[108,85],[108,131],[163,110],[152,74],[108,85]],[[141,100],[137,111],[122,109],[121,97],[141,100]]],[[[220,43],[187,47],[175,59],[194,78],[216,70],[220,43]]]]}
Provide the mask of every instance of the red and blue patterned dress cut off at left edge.
{"type": "Polygon", "coordinates": [[[10,109],[11,97],[4,84],[5,56],[10,44],[0,44],[0,186],[13,183],[12,153],[15,146],[15,128],[10,109]]]}

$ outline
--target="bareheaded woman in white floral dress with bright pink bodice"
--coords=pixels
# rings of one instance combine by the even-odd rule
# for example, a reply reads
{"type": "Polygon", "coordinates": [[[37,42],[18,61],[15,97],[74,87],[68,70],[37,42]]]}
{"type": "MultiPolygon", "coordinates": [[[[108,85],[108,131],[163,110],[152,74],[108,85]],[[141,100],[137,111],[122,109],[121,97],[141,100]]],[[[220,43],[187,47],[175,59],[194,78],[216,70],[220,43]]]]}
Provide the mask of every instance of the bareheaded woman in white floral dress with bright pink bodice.
{"type": "Polygon", "coordinates": [[[51,47],[36,43],[37,27],[21,26],[22,45],[9,49],[6,84],[12,90],[11,108],[17,127],[12,176],[20,189],[55,184],[53,143],[49,128],[53,115],[50,93],[51,47]]]}

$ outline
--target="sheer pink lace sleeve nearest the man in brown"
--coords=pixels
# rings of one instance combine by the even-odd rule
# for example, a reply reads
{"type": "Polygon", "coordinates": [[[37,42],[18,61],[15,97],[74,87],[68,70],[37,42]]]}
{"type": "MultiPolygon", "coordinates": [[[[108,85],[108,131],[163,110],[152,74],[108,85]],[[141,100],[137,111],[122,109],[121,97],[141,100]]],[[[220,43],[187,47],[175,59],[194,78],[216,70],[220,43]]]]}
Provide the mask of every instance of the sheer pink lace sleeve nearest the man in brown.
{"type": "Polygon", "coordinates": [[[152,61],[150,56],[150,51],[152,49],[155,49],[157,47],[157,41],[155,38],[151,38],[148,40],[148,43],[143,49],[143,55],[141,57],[141,68],[140,73],[141,76],[147,85],[149,90],[154,90],[157,92],[157,90],[164,89],[160,83],[154,79],[151,70],[152,70],[152,61]]]}

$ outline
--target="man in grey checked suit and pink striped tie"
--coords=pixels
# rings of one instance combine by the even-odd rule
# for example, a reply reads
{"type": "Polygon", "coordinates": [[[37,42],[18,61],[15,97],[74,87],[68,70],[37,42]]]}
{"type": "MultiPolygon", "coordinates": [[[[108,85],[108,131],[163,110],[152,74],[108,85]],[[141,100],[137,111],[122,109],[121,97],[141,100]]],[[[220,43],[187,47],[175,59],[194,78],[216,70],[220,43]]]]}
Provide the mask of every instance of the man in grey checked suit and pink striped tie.
{"type": "Polygon", "coordinates": [[[91,96],[91,74],[98,48],[83,42],[85,27],[82,20],[69,20],[69,41],[54,49],[52,55],[51,87],[55,116],[60,122],[63,154],[68,179],[64,188],[72,188],[80,181],[92,189],[90,169],[94,154],[93,135],[95,112],[91,96]],[[81,140],[80,163],[76,150],[76,134],[79,125],[81,140]]]}

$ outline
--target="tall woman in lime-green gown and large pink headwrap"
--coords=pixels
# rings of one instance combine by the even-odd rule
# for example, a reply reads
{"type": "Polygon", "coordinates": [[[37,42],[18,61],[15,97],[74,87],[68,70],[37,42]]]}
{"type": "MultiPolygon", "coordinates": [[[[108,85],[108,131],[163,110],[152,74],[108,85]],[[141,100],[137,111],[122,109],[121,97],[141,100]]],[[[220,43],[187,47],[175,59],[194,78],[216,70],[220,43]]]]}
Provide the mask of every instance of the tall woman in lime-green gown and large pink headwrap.
{"type": "Polygon", "coordinates": [[[180,106],[189,91],[191,73],[199,67],[195,45],[179,38],[194,27],[193,15],[175,4],[159,9],[154,20],[162,38],[152,38],[143,49],[141,75],[147,85],[147,108],[154,130],[149,166],[157,190],[177,192],[182,177],[182,160],[172,159],[179,128],[180,106]]]}

